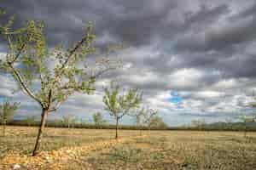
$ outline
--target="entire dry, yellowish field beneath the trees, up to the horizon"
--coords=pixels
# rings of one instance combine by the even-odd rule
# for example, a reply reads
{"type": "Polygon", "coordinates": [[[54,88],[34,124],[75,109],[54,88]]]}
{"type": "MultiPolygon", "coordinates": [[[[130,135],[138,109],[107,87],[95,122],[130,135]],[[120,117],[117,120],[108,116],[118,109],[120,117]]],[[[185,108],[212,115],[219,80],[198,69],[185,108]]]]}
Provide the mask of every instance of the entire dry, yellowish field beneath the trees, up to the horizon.
{"type": "Polygon", "coordinates": [[[8,127],[0,169],[256,169],[256,133],[47,128],[32,157],[35,127],[8,127]]]}

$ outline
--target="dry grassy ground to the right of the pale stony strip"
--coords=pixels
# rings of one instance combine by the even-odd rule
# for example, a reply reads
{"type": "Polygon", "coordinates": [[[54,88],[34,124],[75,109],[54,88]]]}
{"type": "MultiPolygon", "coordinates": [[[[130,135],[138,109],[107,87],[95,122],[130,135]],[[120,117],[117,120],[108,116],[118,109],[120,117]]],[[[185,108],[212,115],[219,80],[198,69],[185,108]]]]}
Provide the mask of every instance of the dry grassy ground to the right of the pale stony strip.
{"type": "Polygon", "coordinates": [[[256,169],[256,133],[151,132],[148,138],[70,160],[66,169],[256,169]]]}

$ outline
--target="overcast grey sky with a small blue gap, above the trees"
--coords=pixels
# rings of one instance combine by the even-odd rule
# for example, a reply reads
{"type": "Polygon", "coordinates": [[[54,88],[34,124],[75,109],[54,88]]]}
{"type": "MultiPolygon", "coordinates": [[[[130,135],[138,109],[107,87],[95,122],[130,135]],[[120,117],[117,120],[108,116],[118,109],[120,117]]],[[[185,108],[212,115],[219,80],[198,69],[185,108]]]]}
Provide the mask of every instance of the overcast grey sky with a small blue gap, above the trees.
{"type": "MultiPolygon", "coordinates": [[[[0,7],[16,14],[15,26],[44,20],[50,48],[79,41],[88,21],[95,27],[96,47],[125,44],[110,56],[124,66],[102,76],[95,94],[74,94],[52,118],[91,121],[92,113],[101,111],[111,121],[102,86],[112,80],[141,89],[144,105],[158,110],[170,126],[235,121],[252,113],[247,105],[256,90],[255,0],[1,0],[0,7]]],[[[0,40],[1,54],[4,47],[0,40]]],[[[1,74],[0,82],[1,100],[20,101],[16,117],[39,116],[36,102],[12,93],[11,77],[1,74]]]]}

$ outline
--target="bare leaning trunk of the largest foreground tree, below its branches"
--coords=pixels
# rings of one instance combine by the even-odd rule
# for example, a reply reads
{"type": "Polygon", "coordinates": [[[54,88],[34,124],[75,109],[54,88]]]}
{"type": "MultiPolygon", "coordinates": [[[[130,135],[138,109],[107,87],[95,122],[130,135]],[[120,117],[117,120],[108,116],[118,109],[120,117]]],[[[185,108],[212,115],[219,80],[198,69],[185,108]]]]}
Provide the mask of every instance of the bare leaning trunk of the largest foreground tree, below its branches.
{"type": "Polygon", "coordinates": [[[44,126],[45,126],[45,122],[47,120],[47,116],[48,116],[48,111],[43,109],[42,115],[41,115],[40,127],[38,129],[38,137],[37,137],[37,140],[36,140],[36,144],[35,144],[35,148],[33,150],[32,156],[38,155],[38,150],[40,149],[41,139],[43,137],[44,126]]]}

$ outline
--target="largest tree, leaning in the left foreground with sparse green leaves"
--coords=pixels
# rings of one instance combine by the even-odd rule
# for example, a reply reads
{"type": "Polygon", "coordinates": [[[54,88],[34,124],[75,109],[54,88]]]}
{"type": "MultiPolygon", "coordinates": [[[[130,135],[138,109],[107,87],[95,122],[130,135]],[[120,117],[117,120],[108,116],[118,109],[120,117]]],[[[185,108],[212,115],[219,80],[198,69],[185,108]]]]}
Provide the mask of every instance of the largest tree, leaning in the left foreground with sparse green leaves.
{"type": "Polygon", "coordinates": [[[35,156],[49,113],[58,110],[74,93],[91,94],[96,78],[116,65],[110,65],[109,59],[100,59],[91,66],[85,63],[85,57],[95,52],[95,35],[90,23],[84,36],[72,48],[62,45],[49,48],[43,22],[30,20],[19,29],[13,24],[14,17],[11,17],[0,26],[0,36],[7,42],[1,69],[12,75],[20,90],[41,106],[38,136],[32,153],[35,156]]]}

